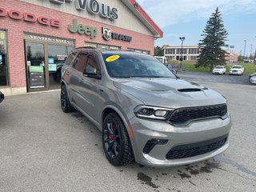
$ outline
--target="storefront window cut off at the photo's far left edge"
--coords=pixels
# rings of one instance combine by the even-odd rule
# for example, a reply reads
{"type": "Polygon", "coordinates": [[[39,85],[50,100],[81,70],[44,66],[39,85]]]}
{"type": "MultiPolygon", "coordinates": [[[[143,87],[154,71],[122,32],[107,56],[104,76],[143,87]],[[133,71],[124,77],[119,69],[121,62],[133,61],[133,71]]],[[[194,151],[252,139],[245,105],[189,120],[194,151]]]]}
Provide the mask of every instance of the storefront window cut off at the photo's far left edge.
{"type": "Polygon", "coordinates": [[[8,86],[6,31],[0,30],[0,86],[8,86]]]}

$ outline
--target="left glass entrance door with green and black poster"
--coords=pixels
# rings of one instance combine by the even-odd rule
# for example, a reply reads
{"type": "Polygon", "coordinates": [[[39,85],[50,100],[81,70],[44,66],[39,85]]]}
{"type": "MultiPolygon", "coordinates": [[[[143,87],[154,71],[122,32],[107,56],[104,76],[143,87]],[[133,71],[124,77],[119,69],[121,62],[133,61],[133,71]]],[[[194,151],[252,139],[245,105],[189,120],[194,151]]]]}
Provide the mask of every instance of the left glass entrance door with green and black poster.
{"type": "Polygon", "coordinates": [[[28,91],[46,90],[44,44],[26,42],[26,78],[28,91]]]}

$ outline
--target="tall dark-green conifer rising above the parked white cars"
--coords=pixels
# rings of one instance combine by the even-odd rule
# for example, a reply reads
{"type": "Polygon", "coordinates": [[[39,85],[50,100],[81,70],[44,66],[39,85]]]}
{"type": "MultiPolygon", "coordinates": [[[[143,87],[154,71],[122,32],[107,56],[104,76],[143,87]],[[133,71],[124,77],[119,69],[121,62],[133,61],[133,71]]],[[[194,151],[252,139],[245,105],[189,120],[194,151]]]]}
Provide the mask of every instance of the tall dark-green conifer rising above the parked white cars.
{"type": "Polygon", "coordinates": [[[224,28],[221,15],[217,8],[211,14],[205,29],[202,31],[203,34],[201,36],[203,39],[198,43],[200,53],[196,67],[210,66],[211,71],[214,66],[226,64],[226,51],[222,50],[222,47],[226,46],[225,41],[228,33],[224,28]]]}

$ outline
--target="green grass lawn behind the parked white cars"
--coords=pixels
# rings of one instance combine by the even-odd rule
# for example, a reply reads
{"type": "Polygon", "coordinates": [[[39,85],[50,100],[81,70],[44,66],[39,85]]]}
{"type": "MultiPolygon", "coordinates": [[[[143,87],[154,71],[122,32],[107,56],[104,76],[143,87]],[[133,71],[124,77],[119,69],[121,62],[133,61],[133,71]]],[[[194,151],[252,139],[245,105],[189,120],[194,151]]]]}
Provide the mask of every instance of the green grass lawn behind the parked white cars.
{"type": "MultiPolygon", "coordinates": [[[[178,61],[169,61],[170,64],[173,64],[176,67],[180,66],[180,63],[178,61]]],[[[182,62],[182,70],[188,71],[188,72],[210,72],[210,67],[198,67],[195,68],[194,66],[195,62],[182,62]]],[[[252,74],[256,72],[256,65],[254,63],[243,63],[239,62],[238,65],[241,65],[244,67],[244,74],[252,74]]],[[[226,74],[229,74],[230,68],[232,66],[226,65],[226,74]]]]}

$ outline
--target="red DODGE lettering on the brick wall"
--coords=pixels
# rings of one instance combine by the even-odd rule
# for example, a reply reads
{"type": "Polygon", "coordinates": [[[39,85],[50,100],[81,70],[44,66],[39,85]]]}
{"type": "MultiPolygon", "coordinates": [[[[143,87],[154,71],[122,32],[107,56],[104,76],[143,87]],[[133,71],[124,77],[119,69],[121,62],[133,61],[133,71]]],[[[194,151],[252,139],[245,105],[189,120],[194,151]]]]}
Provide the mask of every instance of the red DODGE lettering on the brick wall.
{"type": "Polygon", "coordinates": [[[55,18],[48,18],[45,16],[36,16],[35,14],[30,13],[22,13],[18,10],[10,10],[7,11],[4,8],[0,7],[0,18],[9,17],[15,20],[23,20],[24,22],[38,22],[44,26],[54,26],[59,27],[60,22],[58,19],[55,18]]]}

